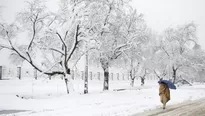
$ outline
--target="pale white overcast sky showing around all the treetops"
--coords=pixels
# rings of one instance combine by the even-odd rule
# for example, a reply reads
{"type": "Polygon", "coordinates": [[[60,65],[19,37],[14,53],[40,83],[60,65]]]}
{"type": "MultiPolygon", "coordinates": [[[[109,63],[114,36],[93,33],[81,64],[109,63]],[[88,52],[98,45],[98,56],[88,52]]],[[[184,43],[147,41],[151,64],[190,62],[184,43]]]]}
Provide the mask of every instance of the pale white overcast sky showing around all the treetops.
{"type": "MultiPolygon", "coordinates": [[[[2,16],[6,22],[15,20],[16,13],[25,8],[24,1],[0,0],[2,16]]],[[[57,9],[59,0],[47,1],[50,10],[57,9]]],[[[133,0],[132,5],[144,14],[148,26],[157,32],[194,21],[198,26],[199,43],[205,49],[205,0],[133,0]]],[[[0,56],[4,54],[0,52],[0,56]]]]}

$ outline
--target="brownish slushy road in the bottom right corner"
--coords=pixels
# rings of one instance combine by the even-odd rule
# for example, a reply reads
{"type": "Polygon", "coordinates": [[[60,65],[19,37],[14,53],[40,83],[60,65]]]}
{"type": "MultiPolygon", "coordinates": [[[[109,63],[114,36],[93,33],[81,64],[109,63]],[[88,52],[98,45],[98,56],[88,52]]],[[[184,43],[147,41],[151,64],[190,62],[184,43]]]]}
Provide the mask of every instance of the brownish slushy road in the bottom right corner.
{"type": "Polygon", "coordinates": [[[165,110],[159,108],[132,116],[205,116],[205,99],[168,105],[165,110]]]}

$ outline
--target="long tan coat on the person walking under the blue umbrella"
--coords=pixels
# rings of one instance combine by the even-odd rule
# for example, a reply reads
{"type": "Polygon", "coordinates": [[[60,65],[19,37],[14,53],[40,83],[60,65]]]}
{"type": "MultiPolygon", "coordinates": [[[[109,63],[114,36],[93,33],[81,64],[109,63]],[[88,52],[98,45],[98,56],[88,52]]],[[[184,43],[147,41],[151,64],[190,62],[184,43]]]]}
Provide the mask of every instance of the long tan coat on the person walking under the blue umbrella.
{"type": "Polygon", "coordinates": [[[166,103],[170,100],[170,90],[166,84],[161,83],[159,86],[160,101],[165,109],[166,103]]]}

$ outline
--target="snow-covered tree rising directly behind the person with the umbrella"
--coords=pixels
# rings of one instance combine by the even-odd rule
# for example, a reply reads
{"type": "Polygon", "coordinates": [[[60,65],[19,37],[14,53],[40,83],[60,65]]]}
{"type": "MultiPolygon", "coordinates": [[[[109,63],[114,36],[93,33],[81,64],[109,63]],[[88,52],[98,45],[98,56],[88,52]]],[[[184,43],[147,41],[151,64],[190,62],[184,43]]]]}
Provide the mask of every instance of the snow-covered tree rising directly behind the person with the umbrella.
{"type": "Polygon", "coordinates": [[[190,62],[187,54],[198,46],[196,25],[189,23],[176,29],[168,28],[164,37],[161,50],[166,55],[164,61],[170,61],[173,83],[175,83],[177,71],[186,67],[187,62],[190,62]],[[194,47],[188,47],[191,45],[194,47]]]}

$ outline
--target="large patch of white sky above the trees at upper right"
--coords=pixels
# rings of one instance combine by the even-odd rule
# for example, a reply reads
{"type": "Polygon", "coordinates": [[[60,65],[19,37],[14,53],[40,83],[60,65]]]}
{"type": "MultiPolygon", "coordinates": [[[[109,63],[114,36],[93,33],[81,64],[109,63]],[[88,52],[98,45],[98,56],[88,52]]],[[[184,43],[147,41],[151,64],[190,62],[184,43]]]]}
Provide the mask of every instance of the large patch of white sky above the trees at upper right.
{"type": "Polygon", "coordinates": [[[194,21],[197,37],[205,48],[205,0],[133,0],[133,6],[145,15],[148,26],[158,32],[194,21]]]}

